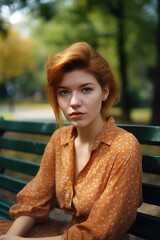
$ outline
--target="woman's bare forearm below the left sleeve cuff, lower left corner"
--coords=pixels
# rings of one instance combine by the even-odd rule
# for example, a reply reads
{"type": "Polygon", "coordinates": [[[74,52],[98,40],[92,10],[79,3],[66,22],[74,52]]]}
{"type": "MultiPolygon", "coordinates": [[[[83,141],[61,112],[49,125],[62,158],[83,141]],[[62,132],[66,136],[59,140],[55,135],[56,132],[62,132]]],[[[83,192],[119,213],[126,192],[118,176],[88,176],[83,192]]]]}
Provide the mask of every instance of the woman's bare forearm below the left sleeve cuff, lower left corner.
{"type": "Polygon", "coordinates": [[[35,221],[32,217],[21,216],[18,217],[6,233],[8,236],[21,236],[23,237],[34,225],[35,221]]]}

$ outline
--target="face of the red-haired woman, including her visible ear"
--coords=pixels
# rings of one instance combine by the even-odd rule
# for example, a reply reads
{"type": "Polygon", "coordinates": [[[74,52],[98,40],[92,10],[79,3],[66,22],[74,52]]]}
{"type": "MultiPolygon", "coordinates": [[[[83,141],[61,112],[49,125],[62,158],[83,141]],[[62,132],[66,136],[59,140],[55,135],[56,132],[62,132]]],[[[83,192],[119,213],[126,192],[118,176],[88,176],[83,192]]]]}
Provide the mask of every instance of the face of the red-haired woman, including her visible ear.
{"type": "Polygon", "coordinates": [[[84,70],[65,73],[59,84],[57,100],[66,119],[75,127],[87,127],[102,120],[101,105],[109,94],[96,78],[84,70]]]}

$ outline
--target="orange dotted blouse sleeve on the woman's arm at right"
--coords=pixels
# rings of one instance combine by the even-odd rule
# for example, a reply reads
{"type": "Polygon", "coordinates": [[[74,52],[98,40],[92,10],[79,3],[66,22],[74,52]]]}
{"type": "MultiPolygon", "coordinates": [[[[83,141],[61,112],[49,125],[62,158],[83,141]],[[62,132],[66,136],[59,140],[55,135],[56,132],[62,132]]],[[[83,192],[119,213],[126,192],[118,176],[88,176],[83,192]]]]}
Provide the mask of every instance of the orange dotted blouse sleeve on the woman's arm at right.
{"type": "Polygon", "coordinates": [[[106,188],[94,203],[88,219],[72,226],[63,239],[121,239],[133,224],[141,204],[141,162],[137,140],[123,143],[106,188]]]}

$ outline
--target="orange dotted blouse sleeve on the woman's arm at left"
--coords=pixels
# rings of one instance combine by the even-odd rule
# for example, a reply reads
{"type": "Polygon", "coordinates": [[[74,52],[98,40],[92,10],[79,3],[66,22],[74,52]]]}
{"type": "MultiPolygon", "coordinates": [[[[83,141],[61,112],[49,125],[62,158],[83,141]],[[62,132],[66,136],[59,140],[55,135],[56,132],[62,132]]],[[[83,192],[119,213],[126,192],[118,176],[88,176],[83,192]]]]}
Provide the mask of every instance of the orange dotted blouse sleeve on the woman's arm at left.
{"type": "Polygon", "coordinates": [[[19,216],[31,216],[36,221],[46,221],[54,206],[55,164],[54,135],[47,144],[40,169],[17,195],[17,204],[10,208],[10,216],[14,220],[19,216]]]}

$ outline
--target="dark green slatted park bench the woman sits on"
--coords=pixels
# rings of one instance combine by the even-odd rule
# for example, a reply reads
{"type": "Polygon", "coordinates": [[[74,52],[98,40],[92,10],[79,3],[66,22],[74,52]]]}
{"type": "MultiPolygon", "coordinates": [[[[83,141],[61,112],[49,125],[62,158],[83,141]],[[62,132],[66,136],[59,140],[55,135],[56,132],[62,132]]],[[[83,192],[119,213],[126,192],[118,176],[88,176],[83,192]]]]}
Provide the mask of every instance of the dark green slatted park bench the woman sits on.
{"type": "MultiPolygon", "coordinates": [[[[132,132],[142,144],[143,151],[147,152],[143,154],[145,211],[143,205],[138,209],[129,233],[144,239],[160,240],[160,126],[119,126],[132,132]],[[150,148],[152,153],[148,152],[150,148]]],[[[41,155],[55,129],[56,124],[47,121],[0,119],[0,219],[10,219],[8,210],[15,202],[15,195],[37,173],[41,155]]]]}

